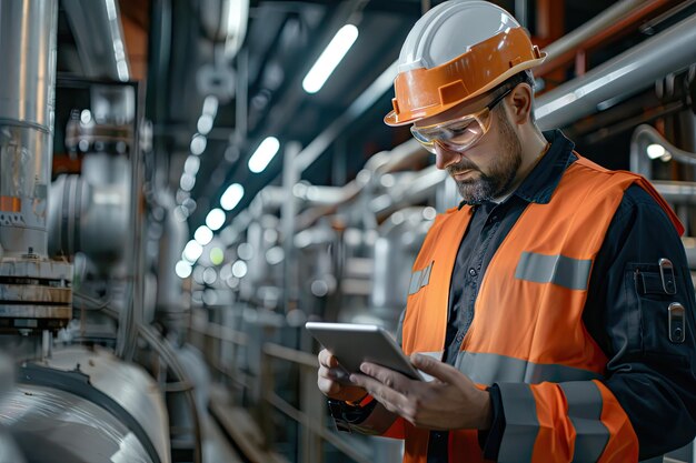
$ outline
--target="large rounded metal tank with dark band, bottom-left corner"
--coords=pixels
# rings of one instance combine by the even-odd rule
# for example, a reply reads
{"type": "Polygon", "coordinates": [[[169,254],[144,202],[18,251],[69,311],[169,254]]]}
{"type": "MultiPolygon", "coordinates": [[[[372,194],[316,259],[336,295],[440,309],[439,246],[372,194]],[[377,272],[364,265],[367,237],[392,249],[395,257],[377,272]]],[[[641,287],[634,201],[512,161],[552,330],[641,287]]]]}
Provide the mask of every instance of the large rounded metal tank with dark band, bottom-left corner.
{"type": "Polygon", "coordinates": [[[167,409],[141,368],[73,346],[22,366],[18,383],[0,426],[29,463],[170,462],[167,409]]]}

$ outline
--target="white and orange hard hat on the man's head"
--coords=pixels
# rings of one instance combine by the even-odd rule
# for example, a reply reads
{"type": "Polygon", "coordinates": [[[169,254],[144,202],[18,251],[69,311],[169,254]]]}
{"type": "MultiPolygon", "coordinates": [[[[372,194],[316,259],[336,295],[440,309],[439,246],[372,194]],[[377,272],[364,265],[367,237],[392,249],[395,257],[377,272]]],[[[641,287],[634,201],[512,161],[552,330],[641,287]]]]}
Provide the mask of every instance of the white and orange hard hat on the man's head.
{"type": "Polygon", "coordinates": [[[546,58],[507,11],[487,1],[451,0],[409,32],[394,81],[388,125],[405,125],[485,93],[546,58]]]}

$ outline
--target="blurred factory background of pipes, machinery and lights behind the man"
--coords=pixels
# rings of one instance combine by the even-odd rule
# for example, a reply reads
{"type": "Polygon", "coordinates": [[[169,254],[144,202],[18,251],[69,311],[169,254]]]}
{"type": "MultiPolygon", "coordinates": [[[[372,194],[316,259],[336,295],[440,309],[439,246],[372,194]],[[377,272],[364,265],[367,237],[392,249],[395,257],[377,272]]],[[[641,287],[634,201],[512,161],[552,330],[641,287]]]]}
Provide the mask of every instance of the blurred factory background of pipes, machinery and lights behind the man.
{"type": "MultiPolygon", "coordinates": [[[[458,204],[381,122],[437,3],[0,0],[0,462],[400,461],[335,432],[302,326],[394,331],[458,204]]],[[[696,1],[497,3],[538,123],[649,178],[696,271],[696,1]]]]}

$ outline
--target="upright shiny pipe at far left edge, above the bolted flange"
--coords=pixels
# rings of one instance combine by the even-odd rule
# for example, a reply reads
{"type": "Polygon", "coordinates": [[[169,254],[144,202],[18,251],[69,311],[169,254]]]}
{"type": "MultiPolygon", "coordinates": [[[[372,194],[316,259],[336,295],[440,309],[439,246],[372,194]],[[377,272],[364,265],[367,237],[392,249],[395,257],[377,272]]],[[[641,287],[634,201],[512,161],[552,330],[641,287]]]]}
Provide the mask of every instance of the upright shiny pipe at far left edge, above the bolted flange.
{"type": "Polygon", "coordinates": [[[0,249],[47,254],[57,0],[0,2],[0,249]]]}

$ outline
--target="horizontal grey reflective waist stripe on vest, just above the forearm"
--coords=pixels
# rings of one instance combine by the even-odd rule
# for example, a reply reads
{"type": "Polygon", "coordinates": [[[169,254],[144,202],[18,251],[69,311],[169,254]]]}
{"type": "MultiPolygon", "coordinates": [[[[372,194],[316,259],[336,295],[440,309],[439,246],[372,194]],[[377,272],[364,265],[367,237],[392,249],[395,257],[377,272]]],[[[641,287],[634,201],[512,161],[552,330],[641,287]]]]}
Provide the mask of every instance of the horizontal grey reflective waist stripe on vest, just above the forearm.
{"type": "Polygon", "coordinates": [[[498,382],[536,384],[544,381],[599,380],[601,375],[588,370],[549,363],[534,363],[506,355],[461,351],[455,366],[479,384],[498,382]]]}

